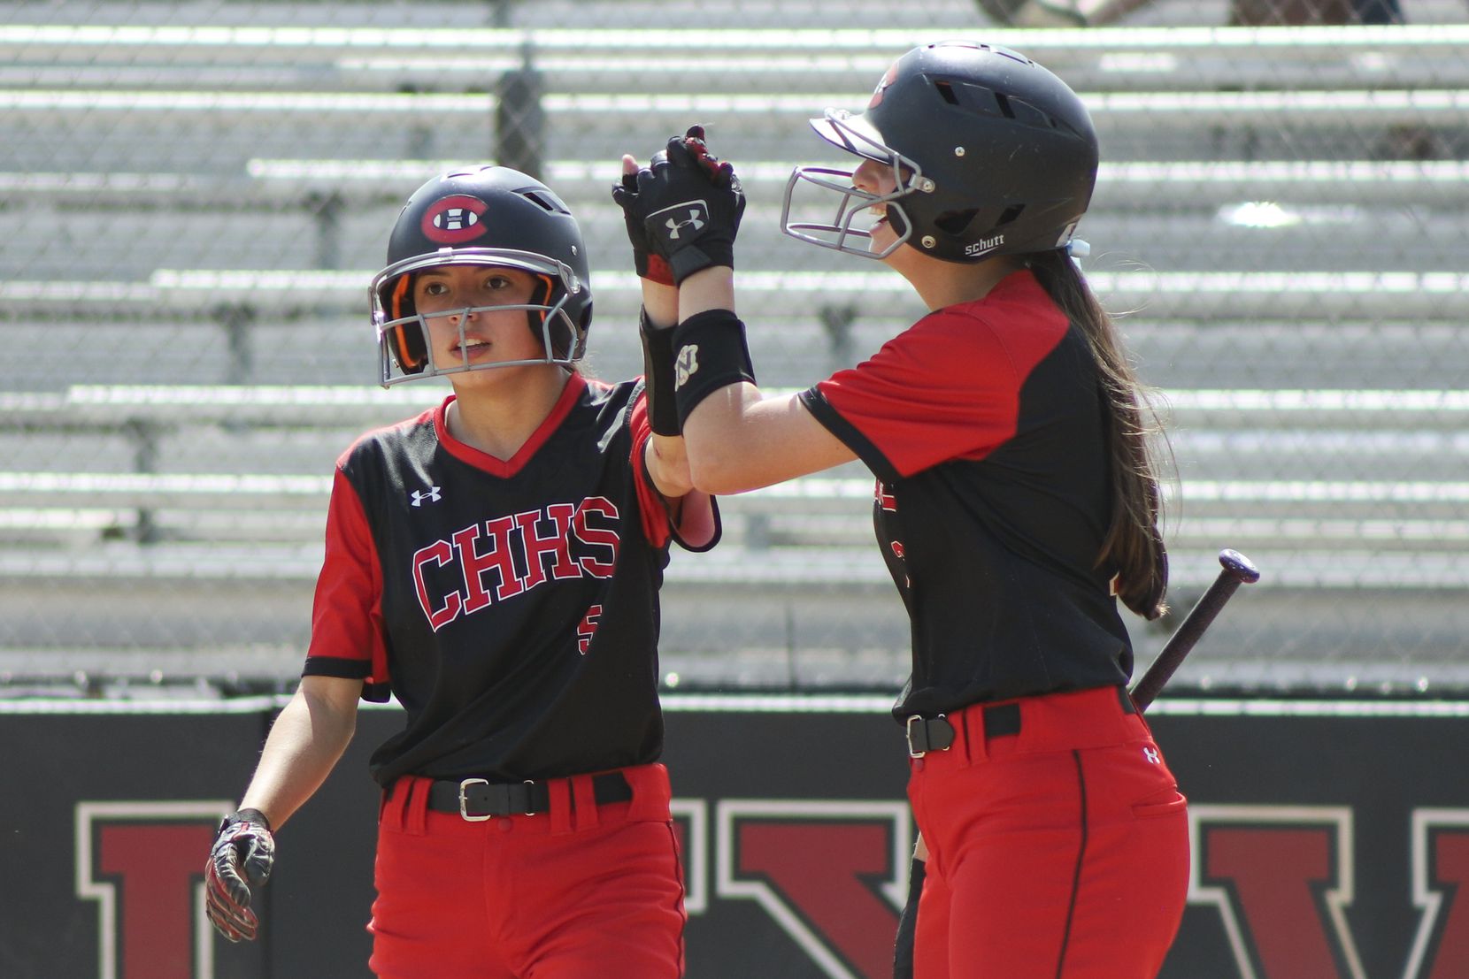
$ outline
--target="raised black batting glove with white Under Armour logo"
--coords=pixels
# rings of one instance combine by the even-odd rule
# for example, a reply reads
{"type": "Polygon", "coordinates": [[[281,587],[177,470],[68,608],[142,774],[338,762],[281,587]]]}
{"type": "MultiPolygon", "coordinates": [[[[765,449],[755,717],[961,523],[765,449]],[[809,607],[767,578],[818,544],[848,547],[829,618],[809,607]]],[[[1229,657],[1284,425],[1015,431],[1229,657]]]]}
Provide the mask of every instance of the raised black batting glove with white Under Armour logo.
{"type": "Polygon", "coordinates": [[[734,267],[745,191],[734,167],[710,153],[704,126],[668,139],[636,183],[648,247],[668,261],[674,285],[710,266],[734,267]]]}

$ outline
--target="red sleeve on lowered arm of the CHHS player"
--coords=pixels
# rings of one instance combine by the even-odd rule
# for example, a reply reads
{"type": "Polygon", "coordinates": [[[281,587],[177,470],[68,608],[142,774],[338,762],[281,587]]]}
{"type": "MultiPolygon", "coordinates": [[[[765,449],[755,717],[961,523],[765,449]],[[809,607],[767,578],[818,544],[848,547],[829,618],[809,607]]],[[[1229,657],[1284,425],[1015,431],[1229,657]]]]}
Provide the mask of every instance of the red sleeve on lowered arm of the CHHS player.
{"type": "Polygon", "coordinates": [[[326,556],[316,578],[303,675],[361,678],[364,697],[386,700],[382,565],[361,499],[341,467],[326,514],[326,556]]]}

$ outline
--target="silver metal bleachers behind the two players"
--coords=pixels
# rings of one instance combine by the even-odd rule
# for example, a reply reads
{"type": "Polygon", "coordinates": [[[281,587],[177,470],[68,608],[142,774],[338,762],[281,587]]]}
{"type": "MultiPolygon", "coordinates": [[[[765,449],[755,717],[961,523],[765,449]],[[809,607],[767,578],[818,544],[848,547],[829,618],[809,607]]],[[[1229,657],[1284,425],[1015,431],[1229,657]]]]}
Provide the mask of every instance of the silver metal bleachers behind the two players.
{"type": "MultiPolygon", "coordinates": [[[[805,119],[859,107],[914,44],[984,35],[1096,119],[1086,267],[1162,395],[1175,606],[1221,547],[1265,572],[1180,680],[1469,684],[1469,23],[1425,4],[1444,22],[1228,29],[1221,3],[1161,1],[1127,28],[996,31],[968,0],[924,6],[871,29],[765,0],[13,7],[0,681],[294,678],[333,459],[445,392],[375,386],[366,285],[408,192],[497,157],[499,79],[542,92],[542,176],[595,269],[592,373],[640,370],[617,159],[702,122],[751,201],[761,382],[799,389],[923,311],[886,269],[779,233],[790,167],[834,159],[805,119]]],[[[665,669],[895,688],[906,619],[870,498],[849,465],[723,501],[726,542],[670,567],[665,669]]],[[[1130,622],[1143,659],[1172,624],[1130,622]]]]}

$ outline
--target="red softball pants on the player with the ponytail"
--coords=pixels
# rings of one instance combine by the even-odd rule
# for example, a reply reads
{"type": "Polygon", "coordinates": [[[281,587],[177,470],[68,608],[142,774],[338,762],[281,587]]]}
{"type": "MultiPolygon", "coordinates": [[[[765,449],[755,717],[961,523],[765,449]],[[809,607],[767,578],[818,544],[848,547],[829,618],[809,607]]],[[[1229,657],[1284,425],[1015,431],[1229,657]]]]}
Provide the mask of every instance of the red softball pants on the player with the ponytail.
{"type": "Polygon", "coordinates": [[[952,747],[912,760],[915,979],[1158,975],[1187,898],[1187,800],[1124,697],[1008,702],[1019,731],[993,737],[1000,705],[974,705],[949,715],[952,747]]]}

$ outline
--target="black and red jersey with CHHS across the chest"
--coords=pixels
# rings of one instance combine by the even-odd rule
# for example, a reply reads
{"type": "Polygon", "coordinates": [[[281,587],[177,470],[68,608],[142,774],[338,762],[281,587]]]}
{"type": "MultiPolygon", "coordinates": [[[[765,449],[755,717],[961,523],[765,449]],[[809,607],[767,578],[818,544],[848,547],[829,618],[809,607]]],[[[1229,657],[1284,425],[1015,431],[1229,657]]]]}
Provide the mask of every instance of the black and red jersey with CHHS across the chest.
{"type": "MultiPolygon", "coordinates": [[[[304,672],[361,678],[366,697],[391,688],[405,707],[372,757],[383,785],[655,760],[658,587],[676,534],[643,464],[642,383],[570,377],[508,461],[450,436],[451,401],[338,461],[304,672]]],[[[689,549],[718,537],[707,501],[686,502],[704,517],[689,549]]]]}

